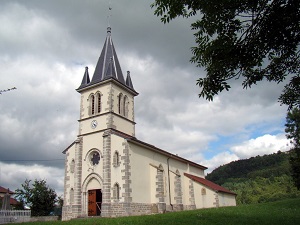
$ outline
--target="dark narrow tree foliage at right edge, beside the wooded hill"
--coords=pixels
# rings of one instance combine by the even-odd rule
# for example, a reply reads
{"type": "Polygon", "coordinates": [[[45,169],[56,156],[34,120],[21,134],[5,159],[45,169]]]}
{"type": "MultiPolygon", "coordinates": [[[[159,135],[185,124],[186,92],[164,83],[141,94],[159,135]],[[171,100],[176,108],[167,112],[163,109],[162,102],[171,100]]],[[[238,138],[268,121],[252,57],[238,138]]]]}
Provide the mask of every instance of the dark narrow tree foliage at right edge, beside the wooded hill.
{"type": "Polygon", "coordinates": [[[285,132],[294,148],[291,150],[290,163],[292,177],[298,190],[300,190],[300,109],[294,108],[286,117],[285,132]]]}

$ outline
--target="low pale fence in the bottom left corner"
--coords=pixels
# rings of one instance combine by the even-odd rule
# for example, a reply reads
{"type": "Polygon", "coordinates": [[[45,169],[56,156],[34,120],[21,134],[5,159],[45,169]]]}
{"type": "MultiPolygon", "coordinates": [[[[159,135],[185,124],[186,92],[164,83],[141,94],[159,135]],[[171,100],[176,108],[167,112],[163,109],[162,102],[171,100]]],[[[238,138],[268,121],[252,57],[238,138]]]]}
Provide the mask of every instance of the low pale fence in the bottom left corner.
{"type": "Polygon", "coordinates": [[[0,224],[29,222],[30,210],[0,210],[0,224]]]}

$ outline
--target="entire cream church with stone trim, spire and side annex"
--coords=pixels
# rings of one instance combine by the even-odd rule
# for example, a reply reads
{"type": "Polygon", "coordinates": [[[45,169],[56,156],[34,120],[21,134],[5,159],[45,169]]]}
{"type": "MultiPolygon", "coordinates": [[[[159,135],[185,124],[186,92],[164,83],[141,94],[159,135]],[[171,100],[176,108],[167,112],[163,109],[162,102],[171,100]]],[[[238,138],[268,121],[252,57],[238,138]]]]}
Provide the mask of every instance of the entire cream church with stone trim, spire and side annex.
{"type": "MultiPolygon", "coordinates": [[[[134,89],[107,28],[90,79],[81,85],[77,139],[65,154],[62,220],[235,206],[236,194],[205,179],[205,166],[136,138],[134,89]]],[[[136,106],[138,107],[138,106],[136,106]]]]}

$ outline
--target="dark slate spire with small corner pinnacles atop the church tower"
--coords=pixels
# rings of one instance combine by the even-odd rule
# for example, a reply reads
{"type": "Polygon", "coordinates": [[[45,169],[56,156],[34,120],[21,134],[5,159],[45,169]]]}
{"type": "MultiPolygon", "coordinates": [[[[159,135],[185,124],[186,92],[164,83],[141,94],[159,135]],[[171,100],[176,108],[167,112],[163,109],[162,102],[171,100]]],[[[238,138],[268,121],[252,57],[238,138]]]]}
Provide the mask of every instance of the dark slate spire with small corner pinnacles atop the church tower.
{"type": "Polygon", "coordinates": [[[130,73],[127,72],[126,81],[124,79],[118,56],[111,38],[110,27],[107,28],[106,40],[98,59],[92,80],[90,80],[88,68],[86,67],[81,85],[77,91],[108,79],[114,79],[115,81],[125,85],[135,92],[130,78],[130,73]]]}

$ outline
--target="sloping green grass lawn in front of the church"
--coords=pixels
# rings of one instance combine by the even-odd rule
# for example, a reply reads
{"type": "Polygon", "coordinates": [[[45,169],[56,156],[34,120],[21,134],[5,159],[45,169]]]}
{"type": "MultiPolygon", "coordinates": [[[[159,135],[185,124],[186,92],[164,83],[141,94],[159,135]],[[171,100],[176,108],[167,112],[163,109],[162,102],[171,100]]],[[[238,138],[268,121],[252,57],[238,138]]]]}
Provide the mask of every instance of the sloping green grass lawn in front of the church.
{"type": "MultiPolygon", "coordinates": [[[[29,223],[22,223],[22,225],[29,223]]],[[[295,225],[300,224],[300,198],[277,202],[199,209],[147,216],[35,222],[42,225],[295,225]]],[[[21,224],[20,224],[21,225],[21,224]]]]}

